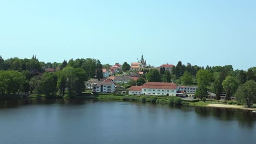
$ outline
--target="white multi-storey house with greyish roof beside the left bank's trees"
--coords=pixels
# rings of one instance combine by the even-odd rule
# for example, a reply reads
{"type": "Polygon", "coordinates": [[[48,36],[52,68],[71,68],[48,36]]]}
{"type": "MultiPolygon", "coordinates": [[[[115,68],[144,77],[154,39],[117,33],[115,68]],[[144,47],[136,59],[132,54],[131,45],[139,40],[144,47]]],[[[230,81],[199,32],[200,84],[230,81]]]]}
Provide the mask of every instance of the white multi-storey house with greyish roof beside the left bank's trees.
{"type": "Polygon", "coordinates": [[[114,82],[98,81],[92,85],[93,93],[114,93],[115,84],[114,82]]]}

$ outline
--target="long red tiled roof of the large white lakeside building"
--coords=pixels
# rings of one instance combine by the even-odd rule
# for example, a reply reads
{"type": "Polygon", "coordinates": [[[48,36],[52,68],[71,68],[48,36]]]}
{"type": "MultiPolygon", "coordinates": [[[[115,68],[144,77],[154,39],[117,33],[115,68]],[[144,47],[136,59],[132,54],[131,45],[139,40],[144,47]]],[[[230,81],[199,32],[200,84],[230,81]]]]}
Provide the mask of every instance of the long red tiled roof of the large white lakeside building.
{"type": "Polygon", "coordinates": [[[175,83],[168,82],[146,82],[143,84],[142,88],[177,89],[177,85],[175,83]]]}

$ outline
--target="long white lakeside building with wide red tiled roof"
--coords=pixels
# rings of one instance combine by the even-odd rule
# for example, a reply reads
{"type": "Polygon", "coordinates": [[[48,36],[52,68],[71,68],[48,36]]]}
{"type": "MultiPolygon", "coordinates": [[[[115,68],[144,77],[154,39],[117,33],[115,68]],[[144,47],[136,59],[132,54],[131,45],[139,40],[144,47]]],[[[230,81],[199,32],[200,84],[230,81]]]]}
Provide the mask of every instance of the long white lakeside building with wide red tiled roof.
{"type": "Polygon", "coordinates": [[[142,86],[142,92],[146,95],[176,96],[178,86],[168,82],[146,82],[142,86]]]}

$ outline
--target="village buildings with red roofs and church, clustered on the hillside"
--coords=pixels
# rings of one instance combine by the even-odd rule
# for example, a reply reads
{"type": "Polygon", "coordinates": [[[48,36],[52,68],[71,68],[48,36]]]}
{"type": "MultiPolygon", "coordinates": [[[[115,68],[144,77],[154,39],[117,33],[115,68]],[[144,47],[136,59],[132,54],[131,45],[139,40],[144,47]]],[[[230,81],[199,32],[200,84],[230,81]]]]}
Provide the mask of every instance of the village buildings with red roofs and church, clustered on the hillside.
{"type": "MultiPolygon", "coordinates": [[[[172,71],[173,64],[162,64],[156,69],[165,69],[172,71]]],[[[103,79],[90,79],[85,82],[86,89],[91,89],[92,93],[120,93],[129,95],[161,95],[161,96],[177,96],[194,98],[197,86],[184,86],[177,85],[173,82],[147,82],[141,86],[131,86],[127,83],[137,81],[139,77],[143,77],[144,71],[147,71],[147,62],[144,60],[143,55],[140,61],[132,62],[129,71],[120,75],[122,65],[114,64],[110,69],[102,69],[103,79]],[[127,86],[127,87],[125,87],[127,86]]],[[[215,99],[216,94],[209,93],[207,99],[215,99]]],[[[225,99],[225,94],[221,96],[222,100],[225,99]]],[[[234,100],[234,97],[231,97],[234,100]]]]}

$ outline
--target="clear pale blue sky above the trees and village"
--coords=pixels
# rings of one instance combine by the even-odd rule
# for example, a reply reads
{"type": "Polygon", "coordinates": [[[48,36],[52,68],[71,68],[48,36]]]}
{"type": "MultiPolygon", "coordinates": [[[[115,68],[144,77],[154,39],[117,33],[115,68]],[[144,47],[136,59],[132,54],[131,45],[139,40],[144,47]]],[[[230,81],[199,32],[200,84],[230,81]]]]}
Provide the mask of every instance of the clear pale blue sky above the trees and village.
{"type": "Polygon", "coordinates": [[[0,1],[0,55],[256,66],[256,1],[0,1]]]}

